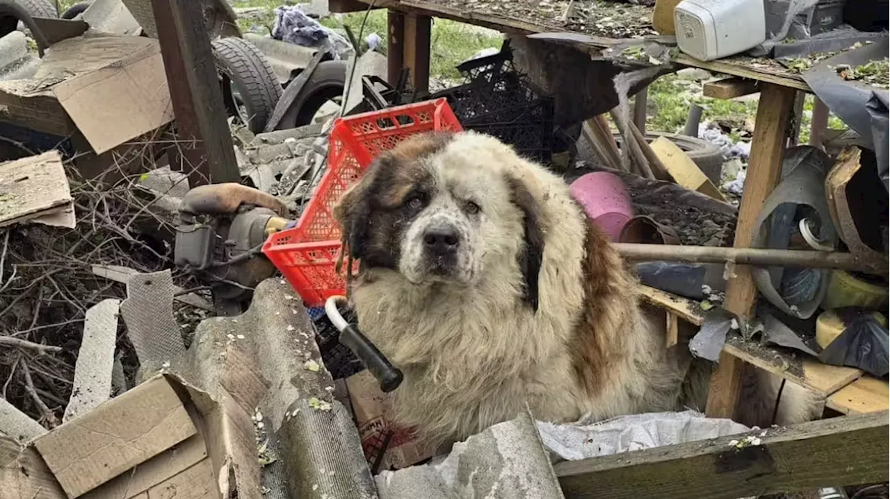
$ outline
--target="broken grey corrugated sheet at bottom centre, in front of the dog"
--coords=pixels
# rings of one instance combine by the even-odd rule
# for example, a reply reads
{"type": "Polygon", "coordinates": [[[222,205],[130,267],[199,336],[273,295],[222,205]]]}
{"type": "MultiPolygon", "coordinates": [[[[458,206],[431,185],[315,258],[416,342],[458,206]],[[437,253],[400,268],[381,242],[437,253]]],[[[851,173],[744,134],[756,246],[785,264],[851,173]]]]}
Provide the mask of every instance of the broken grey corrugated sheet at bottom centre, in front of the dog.
{"type": "Polygon", "coordinates": [[[380,499],[561,499],[534,420],[523,413],[457,443],[444,461],[376,477],[380,499]]]}

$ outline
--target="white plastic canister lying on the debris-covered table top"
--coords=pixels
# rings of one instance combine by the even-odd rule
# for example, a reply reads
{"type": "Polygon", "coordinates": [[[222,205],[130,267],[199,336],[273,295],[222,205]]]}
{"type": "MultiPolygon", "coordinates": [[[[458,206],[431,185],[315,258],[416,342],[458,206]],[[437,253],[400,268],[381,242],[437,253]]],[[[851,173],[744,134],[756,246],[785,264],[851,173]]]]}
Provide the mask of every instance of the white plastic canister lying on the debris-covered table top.
{"type": "Polygon", "coordinates": [[[765,42],[764,0],[683,0],[674,28],[680,50],[695,59],[728,57],[765,42]]]}

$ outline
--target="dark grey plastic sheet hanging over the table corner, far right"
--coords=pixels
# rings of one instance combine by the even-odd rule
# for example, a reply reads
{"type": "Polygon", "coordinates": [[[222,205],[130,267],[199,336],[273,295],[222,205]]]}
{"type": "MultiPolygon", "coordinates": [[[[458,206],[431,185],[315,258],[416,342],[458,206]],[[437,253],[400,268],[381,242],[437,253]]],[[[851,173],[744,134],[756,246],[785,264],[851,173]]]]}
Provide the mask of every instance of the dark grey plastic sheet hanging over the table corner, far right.
{"type": "Polygon", "coordinates": [[[890,90],[837,75],[838,65],[858,67],[890,57],[890,37],[822,61],[802,76],[832,113],[858,133],[877,158],[878,177],[890,192],[890,90]]]}

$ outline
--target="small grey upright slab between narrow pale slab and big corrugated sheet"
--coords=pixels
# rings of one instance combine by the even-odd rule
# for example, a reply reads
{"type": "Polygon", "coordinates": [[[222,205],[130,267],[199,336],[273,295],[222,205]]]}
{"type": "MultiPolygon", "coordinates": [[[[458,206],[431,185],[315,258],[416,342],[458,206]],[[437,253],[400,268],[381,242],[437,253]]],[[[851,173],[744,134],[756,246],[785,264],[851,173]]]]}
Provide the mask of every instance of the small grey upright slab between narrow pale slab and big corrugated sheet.
{"type": "Polygon", "coordinates": [[[120,305],[127,336],[141,364],[164,364],[185,354],[182,334],[173,316],[173,276],[169,269],[134,273],[126,283],[127,298],[120,305]]]}

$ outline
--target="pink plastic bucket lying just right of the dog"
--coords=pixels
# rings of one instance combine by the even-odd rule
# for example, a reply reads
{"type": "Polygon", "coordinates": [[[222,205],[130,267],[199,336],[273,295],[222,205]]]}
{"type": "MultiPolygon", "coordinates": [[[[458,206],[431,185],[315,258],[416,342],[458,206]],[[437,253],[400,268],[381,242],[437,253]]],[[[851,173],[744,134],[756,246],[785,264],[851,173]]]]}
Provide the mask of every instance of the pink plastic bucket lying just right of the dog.
{"type": "Polygon", "coordinates": [[[595,171],[572,182],[569,191],[584,207],[587,217],[609,234],[613,242],[618,242],[621,229],[634,216],[624,182],[607,171],[595,171]]]}

